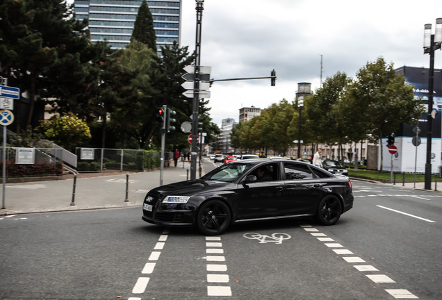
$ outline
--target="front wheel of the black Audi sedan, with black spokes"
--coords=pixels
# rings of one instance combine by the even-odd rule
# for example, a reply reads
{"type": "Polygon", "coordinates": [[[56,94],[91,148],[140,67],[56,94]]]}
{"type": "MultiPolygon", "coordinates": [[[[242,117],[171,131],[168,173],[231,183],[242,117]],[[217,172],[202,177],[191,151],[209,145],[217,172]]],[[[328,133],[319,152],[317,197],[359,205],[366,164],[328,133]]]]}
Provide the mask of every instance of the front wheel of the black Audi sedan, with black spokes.
{"type": "Polygon", "coordinates": [[[205,235],[218,235],[229,227],[231,213],[226,203],[209,200],[198,210],[197,228],[205,235]]]}

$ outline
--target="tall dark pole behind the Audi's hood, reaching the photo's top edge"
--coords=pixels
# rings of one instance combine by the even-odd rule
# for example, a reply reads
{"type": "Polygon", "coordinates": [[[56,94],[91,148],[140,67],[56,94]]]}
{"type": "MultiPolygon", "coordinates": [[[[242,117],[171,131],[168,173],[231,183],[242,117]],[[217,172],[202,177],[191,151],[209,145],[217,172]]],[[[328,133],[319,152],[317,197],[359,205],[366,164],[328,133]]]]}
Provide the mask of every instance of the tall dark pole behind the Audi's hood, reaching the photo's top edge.
{"type": "Polygon", "coordinates": [[[195,81],[193,84],[193,110],[192,110],[192,146],[190,154],[190,180],[197,178],[197,153],[198,153],[198,121],[199,121],[199,69],[201,57],[201,29],[202,11],[204,0],[197,0],[197,33],[195,38],[195,81]]]}

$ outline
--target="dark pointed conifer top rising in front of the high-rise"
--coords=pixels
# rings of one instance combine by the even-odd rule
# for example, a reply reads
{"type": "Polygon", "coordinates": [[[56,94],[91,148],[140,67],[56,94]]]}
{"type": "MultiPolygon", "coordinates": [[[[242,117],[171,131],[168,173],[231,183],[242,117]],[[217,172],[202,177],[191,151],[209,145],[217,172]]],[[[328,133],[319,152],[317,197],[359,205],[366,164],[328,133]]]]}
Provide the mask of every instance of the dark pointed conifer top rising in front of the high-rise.
{"type": "Polygon", "coordinates": [[[154,29],[154,19],[147,6],[147,1],[143,0],[138,14],[133,24],[131,42],[138,40],[156,52],[156,33],[154,29]]]}

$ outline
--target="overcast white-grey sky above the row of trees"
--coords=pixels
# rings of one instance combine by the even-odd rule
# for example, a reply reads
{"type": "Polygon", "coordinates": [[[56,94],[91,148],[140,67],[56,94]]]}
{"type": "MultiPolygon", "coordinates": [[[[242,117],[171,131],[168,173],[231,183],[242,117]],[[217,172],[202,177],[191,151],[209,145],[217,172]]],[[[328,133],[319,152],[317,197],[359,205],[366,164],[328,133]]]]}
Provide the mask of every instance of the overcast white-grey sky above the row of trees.
{"type": "MultiPolygon", "coordinates": [[[[195,49],[195,0],[182,0],[181,46],[195,49]]],[[[354,77],[379,56],[394,67],[429,67],[423,28],[442,17],[442,0],[206,0],[202,16],[201,65],[211,78],[270,76],[211,87],[211,117],[238,122],[244,106],[267,108],[295,99],[297,83],[312,90],[336,72],[354,77]]],[[[442,68],[442,51],[435,67],[442,68]]]]}

